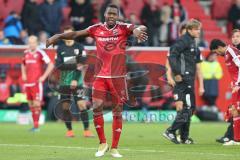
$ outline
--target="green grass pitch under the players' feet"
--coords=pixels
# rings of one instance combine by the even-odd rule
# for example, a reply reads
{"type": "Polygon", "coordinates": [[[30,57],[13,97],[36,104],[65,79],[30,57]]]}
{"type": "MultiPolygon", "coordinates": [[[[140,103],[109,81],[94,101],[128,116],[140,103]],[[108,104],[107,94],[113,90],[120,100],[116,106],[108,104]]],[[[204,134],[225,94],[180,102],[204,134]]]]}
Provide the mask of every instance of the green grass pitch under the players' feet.
{"type": "MultiPolygon", "coordinates": [[[[175,145],[162,137],[168,124],[124,123],[119,151],[123,160],[239,160],[240,146],[222,146],[215,142],[226,123],[192,124],[194,145],[175,145]]],[[[91,125],[93,128],[93,125],[91,125]]],[[[65,138],[63,123],[47,123],[38,133],[30,126],[0,124],[0,160],[109,160],[107,153],[95,158],[98,139],[84,138],[82,124],[74,123],[75,138],[65,138]]],[[[111,124],[105,124],[111,144],[111,124]]]]}

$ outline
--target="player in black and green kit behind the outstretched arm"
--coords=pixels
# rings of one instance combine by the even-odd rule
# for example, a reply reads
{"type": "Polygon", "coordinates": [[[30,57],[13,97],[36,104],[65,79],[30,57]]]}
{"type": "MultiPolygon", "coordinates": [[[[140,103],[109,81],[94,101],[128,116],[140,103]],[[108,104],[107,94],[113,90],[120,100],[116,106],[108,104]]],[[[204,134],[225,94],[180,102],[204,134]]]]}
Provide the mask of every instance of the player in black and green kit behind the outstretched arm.
{"type": "MultiPolygon", "coordinates": [[[[64,33],[72,32],[73,28],[67,26],[64,28],[64,33]]],[[[84,95],[80,95],[80,90],[83,90],[83,67],[82,70],[77,69],[77,65],[81,65],[79,60],[84,58],[85,53],[83,46],[74,40],[64,40],[58,45],[56,67],[61,72],[60,77],[60,96],[59,100],[61,111],[63,112],[63,120],[67,127],[66,137],[74,137],[72,130],[72,114],[71,96],[73,97],[77,107],[80,110],[80,117],[84,127],[84,137],[93,137],[94,135],[89,130],[89,117],[84,95]],[[78,64],[77,64],[78,63],[78,64]]],[[[86,53],[85,53],[86,54],[86,53]]],[[[85,55],[86,56],[86,55],[85,55]]],[[[81,67],[81,66],[79,66],[81,67]]]]}

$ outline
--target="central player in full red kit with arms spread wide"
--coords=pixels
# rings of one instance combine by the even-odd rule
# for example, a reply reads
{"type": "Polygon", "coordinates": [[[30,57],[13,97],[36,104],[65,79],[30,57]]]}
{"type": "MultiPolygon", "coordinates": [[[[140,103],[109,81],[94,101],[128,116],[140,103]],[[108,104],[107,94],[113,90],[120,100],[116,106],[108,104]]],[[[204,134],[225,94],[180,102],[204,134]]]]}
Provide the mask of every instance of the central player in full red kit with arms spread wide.
{"type": "Polygon", "coordinates": [[[107,93],[110,92],[113,103],[113,125],[111,155],[122,157],[118,152],[118,142],[122,132],[123,103],[128,99],[126,86],[126,42],[130,35],[134,35],[140,41],[147,40],[145,26],[134,26],[121,23],[119,8],[110,4],[105,11],[105,22],[95,24],[85,30],[57,34],[47,41],[47,47],[56,44],[60,39],[75,39],[82,36],[91,36],[96,40],[97,58],[100,63],[95,65],[99,72],[95,71],[96,79],[93,82],[93,112],[94,125],[98,134],[100,145],[95,157],[104,156],[108,151],[108,144],[104,133],[103,106],[107,93]]]}

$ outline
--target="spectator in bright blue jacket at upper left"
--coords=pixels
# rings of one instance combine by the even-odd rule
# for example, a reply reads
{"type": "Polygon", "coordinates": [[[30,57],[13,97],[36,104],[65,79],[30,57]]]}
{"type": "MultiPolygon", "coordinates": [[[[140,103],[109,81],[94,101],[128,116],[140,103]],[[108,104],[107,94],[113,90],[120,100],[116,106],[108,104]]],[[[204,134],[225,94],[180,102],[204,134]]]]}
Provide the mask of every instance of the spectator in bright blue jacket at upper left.
{"type": "Polygon", "coordinates": [[[20,38],[20,33],[23,30],[19,15],[12,11],[4,20],[4,35],[13,44],[17,44],[20,38]]]}

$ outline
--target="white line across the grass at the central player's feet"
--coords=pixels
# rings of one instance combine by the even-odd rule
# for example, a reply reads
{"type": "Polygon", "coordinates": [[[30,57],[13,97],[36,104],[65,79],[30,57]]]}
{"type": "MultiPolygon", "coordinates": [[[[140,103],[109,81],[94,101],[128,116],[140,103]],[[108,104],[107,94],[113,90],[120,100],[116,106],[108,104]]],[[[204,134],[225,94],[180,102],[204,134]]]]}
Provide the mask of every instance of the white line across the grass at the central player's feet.
{"type": "MultiPolygon", "coordinates": [[[[54,146],[54,145],[31,145],[31,144],[0,144],[0,147],[37,147],[37,148],[55,148],[55,149],[76,149],[76,150],[97,150],[92,147],[74,147],[74,146],[54,146]]],[[[192,155],[208,155],[208,156],[225,156],[225,157],[239,157],[240,154],[221,154],[221,153],[203,153],[203,152],[170,152],[164,150],[153,150],[153,149],[119,149],[128,152],[142,152],[142,153],[173,153],[173,154],[192,154],[192,155]]]]}

